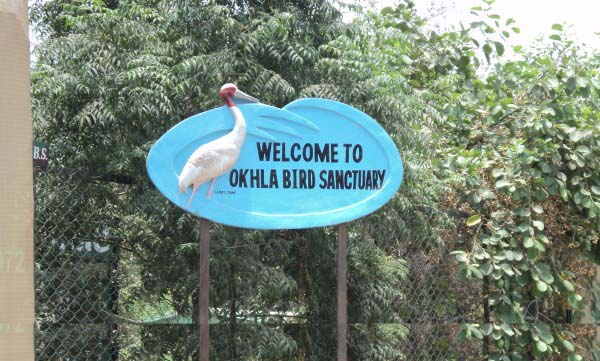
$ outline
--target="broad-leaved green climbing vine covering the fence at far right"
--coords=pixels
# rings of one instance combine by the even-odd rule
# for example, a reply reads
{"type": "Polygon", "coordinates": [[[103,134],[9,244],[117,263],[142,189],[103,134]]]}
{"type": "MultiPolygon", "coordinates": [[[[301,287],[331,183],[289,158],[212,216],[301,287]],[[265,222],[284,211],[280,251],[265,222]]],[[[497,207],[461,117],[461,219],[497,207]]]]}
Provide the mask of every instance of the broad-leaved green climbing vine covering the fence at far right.
{"type": "Polygon", "coordinates": [[[582,359],[563,326],[583,307],[567,255],[599,250],[600,77],[598,55],[553,30],[538,48],[516,47],[516,60],[484,48],[493,70],[464,84],[441,127],[451,134],[441,169],[470,212],[468,246],[454,254],[488,295],[484,323],[461,333],[485,339],[491,360],[582,359]]]}

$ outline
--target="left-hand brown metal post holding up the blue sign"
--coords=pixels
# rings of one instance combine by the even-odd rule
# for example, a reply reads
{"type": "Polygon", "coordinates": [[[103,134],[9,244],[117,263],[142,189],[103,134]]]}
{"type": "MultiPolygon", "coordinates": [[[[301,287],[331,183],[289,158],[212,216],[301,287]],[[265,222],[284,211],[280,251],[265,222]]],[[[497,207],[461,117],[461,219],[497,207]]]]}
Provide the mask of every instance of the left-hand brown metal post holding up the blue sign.
{"type": "Polygon", "coordinates": [[[200,361],[208,361],[210,339],[208,337],[208,287],[210,271],[210,222],[200,219],[200,294],[198,297],[198,323],[200,324],[200,361]]]}

